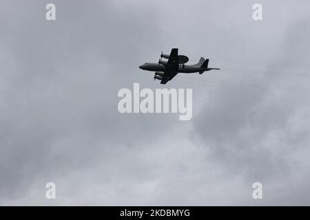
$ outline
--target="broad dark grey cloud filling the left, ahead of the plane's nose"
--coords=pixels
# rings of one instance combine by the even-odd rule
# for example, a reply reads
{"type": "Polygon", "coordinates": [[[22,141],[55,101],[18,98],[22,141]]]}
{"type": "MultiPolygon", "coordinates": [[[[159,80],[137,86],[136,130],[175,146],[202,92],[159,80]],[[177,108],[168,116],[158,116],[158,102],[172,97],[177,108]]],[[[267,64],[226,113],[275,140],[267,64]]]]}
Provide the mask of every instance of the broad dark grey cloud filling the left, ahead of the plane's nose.
{"type": "Polygon", "coordinates": [[[158,120],[136,122],[139,116],[117,111],[117,91],[132,87],[134,81],[125,82],[143,56],[132,41],[148,41],[156,31],[152,21],[138,26],[152,11],[134,14],[101,1],[54,3],[54,23],[45,21],[45,3],[7,3],[13,9],[2,25],[1,72],[8,83],[1,94],[3,199],[21,197],[45,174],[63,176],[91,164],[96,151],[104,161],[117,148],[130,148],[141,133],[153,135],[144,123],[164,130],[158,120]],[[15,8],[21,4],[23,13],[15,8]]]}

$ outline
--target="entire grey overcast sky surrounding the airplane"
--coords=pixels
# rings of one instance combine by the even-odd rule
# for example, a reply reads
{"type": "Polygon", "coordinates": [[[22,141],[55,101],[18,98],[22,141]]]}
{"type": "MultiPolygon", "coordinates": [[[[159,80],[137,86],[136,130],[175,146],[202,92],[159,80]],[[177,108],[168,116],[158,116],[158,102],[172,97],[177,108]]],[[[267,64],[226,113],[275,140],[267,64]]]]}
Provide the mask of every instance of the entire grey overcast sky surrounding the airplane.
{"type": "Polygon", "coordinates": [[[47,3],[1,1],[0,205],[310,205],[309,1],[47,3]],[[172,47],[221,70],[138,69],[172,47]],[[192,120],[118,113],[133,83],[192,88],[192,120]]]}

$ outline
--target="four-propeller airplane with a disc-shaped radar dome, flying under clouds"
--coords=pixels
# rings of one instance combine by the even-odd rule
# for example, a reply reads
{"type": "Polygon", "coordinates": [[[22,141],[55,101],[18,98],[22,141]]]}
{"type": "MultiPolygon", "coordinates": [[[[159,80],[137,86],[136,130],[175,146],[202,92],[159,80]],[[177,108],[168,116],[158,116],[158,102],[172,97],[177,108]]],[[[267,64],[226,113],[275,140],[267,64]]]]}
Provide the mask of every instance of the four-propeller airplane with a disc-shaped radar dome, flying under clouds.
{"type": "Polygon", "coordinates": [[[178,55],[178,48],[172,48],[170,55],[163,54],[161,52],[161,58],[158,63],[145,63],[139,66],[140,69],[155,72],[154,80],[161,80],[161,84],[166,84],[176,74],[193,74],[199,73],[203,74],[205,71],[218,68],[209,68],[209,59],[201,57],[199,62],[195,65],[185,65],[189,61],[189,58],[184,55],[178,55]],[[163,61],[166,58],[168,61],[163,61]]]}

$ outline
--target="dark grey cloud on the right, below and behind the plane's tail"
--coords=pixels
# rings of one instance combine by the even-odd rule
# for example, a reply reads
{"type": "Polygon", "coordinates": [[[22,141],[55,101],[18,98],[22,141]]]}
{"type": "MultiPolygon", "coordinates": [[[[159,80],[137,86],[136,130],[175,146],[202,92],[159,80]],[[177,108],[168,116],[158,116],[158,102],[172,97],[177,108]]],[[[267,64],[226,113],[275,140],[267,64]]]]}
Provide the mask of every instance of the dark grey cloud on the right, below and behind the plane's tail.
{"type": "Polygon", "coordinates": [[[267,187],[274,184],[274,191],[268,191],[269,204],[277,203],[277,196],[287,196],[279,204],[310,201],[308,195],[298,201],[296,189],[301,186],[306,192],[309,181],[293,183],[305,174],[300,169],[309,167],[307,159],[299,157],[300,152],[309,154],[310,144],[309,88],[304,83],[309,80],[307,21],[289,25],[278,56],[262,77],[245,76],[223,85],[194,121],[193,140],[210,148],[209,159],[219,162],[228,175],[242,174],[249,183],[262,181],[267,187]],[[291,193],[292,185],[296,195],[291,193]]]}

